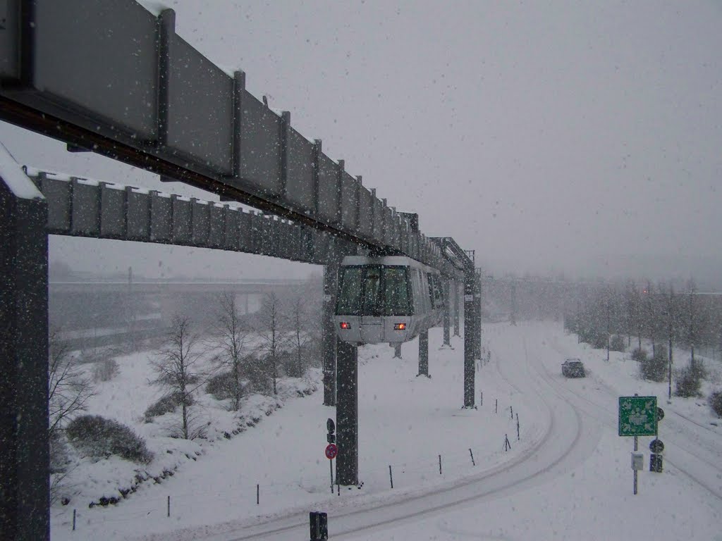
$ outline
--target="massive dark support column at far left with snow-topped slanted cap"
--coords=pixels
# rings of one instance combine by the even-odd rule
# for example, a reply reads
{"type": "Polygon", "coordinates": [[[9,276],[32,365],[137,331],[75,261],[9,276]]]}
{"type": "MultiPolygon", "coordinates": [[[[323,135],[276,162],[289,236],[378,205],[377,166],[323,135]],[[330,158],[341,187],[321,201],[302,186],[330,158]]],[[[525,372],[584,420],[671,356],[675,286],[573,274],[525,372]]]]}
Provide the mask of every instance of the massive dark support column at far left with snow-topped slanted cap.
{"type": "Polygon", "coordinates": [[[8,540],[46,541],[48,211],[19,166],[9,156],[2,162],[17,171],[0,170],[0,532],[8,540]],[[21,196],[5,175],[21,182],[21,196]]]}

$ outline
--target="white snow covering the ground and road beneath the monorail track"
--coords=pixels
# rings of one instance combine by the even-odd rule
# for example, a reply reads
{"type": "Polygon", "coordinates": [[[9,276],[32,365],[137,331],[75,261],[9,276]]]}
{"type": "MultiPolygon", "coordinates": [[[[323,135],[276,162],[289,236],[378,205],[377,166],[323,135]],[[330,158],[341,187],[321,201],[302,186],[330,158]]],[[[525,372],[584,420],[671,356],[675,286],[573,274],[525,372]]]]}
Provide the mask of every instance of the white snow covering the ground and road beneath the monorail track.
{"type": "MultiPolygon", "coordinates": [[[[430,379],[417,377],[416,341],[401,360],[386,345],[360,348],[361,488],[331,493],[323,449],[335,411],[321,405],[318,385],[309,397],[287,392],[281,408],[230,440],[188,444],[195,460],[175,459],[175,475],[142,483],[117,506],[54,506],[53,540],[305,539],[311,510],[329,513],[331,539],[722,540],[722,423],[703,400],[666,403],[666,384],[638,379],[628,354],[606,362],[560,323],[497,323],[484,325],[491,362],[477,372],[478,409],[464,410],[463,342],[441,342],[432,330],[430,379]],[[562,378],[565,357],[582,359],[588,377],[562,378]],[[617,436],[617,397],[635,392],[657,395],[666,412],[664,472],[640,472],[637,496],[632,441],[617,436]]],[[[120,364],[95,397],[108,409],[94,413],[131,424],[157,451],[162,441],[140,418],[154,398],[144,356],[120,364]]],[[[708,369],[719,382],[720,366],[708,369]]],[[[650,440],[640,438],[645,467],[650,440]]],[[[107,472],[95,479],[113,485],[107,472]]]]}

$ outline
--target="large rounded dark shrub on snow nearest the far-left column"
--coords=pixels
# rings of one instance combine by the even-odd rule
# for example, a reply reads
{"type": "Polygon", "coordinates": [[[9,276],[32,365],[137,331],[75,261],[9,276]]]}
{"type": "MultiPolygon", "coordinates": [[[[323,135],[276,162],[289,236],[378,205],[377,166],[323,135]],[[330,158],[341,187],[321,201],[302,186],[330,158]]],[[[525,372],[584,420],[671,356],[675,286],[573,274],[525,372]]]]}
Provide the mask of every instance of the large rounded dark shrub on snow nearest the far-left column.
{"type": "Polygon", "coordinates": [[[145,441],[123,423],[100,415],[81,415],[74,418],[66,428],[73,447],[90,457],[116,455],[132,462],[147,464],[153,454],[145,447],[145,441]]]}

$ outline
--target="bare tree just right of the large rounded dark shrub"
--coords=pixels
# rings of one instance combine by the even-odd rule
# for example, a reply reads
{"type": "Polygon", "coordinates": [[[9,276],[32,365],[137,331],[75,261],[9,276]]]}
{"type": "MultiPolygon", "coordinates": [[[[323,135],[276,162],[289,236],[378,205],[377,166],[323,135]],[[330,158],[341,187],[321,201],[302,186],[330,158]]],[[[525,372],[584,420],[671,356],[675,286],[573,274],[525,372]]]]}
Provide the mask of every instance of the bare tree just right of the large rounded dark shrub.
{"type": "Polygon", "coordinates": [[[193,404],[193,392],[205,382],[204,374],[199,370],[201,353],[198,349],[199,337],[191,332],[191,320],[175,315],[168,333],[168,344],[158,352],[157,359],[150,361],[157,374],[151,383],[170,390],[181,406],[181,434],[184,439],[199,435],[191,430],[188,413],[193,404]]]}

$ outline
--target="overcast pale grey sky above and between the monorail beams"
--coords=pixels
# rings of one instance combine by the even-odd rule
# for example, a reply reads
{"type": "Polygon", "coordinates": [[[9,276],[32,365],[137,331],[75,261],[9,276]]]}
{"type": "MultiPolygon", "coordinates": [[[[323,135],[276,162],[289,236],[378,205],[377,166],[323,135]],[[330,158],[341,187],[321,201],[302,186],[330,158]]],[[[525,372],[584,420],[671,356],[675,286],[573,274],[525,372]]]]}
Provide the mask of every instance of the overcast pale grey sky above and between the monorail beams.
{"type": "MultiPolygon", "coordinates": [[[[722,260],[720,1],[163,4],[181,37],[243,69],[329,157],[490,271],[606,276],[642,255],[690,273],[674,262],[722,260]]],[[[7,125],[0,140],[38,167],[159,186],[7,125]]],[[[53,257],[149,274],[310,271],[121,244],[53,239],[53,257]]]]}

